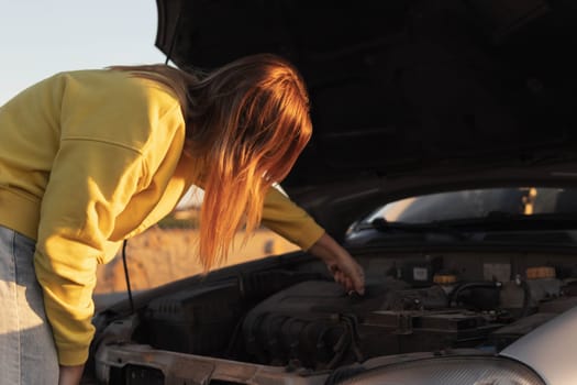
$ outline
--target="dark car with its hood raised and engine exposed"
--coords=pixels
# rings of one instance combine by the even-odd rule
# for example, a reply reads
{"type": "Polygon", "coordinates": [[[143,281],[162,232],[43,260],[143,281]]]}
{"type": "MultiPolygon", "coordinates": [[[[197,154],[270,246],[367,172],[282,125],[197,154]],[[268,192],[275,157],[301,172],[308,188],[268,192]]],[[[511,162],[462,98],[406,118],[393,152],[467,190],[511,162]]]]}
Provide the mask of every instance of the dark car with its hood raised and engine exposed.
{"type": "Polygon", "coordinates": [[[304,252],[171,283],[95,317],[87,376],[110,384],[575,383],[577,217],[531,206],[534,191],[577,188],[575,6],[157,4],[156,45],[179,67],[273,52],[301,70],[314,134],[282,186],[347,245],[367,288],[345,293],[304,252]],[[514,193],[519,212],[471,218],[468,201],[454,200],[497,190],[514,193]],[[433,212],[426,220],[408,223],[401,212],[364,221],[387,204],[435,194],[451,198],[424,205],[433,212]],[[450,218],[457,223],[439,220],[450,208],[461,213],[450,218]]]}

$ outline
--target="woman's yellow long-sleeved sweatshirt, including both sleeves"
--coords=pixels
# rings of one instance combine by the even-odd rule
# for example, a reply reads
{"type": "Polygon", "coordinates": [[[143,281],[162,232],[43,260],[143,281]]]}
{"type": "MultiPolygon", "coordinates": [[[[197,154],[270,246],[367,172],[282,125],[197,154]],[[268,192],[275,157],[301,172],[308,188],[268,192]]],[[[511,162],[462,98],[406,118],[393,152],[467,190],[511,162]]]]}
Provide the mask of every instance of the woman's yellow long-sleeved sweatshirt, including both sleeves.
{"type": "MultiPolygon", "coordinates": [[[[0,108],[0,224],[36,240],[34,264],[63,365],[88,358],[98,263],[169,213],[202,170],[165,86],[114,70],[57,74],[0,108]]],[[[310,248],[311,217],[270,189],[265,226],[310,248]]]]}

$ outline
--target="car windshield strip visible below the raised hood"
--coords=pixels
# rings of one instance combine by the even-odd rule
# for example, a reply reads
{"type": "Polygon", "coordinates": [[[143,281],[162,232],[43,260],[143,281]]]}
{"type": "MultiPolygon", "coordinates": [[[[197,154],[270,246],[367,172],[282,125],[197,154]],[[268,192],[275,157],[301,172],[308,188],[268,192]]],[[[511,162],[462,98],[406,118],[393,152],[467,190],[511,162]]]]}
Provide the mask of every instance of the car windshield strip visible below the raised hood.
{"type": "Polygon", "coordinates": [[[363,222],[428,223],[501,215],[577,213],[577,189],[554,187],[486,188],[410,197],[388,204],[363,222]]]}

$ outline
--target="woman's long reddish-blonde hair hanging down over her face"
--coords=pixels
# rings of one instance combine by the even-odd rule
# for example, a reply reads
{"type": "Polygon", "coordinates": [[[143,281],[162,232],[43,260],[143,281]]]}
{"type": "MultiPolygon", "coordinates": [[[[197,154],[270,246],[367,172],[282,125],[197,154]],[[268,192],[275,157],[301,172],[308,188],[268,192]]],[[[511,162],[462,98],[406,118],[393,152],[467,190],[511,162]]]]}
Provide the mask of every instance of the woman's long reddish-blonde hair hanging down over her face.
{"type": "Polygon", "coordinates": [[[266,191],[287,176],[310,140],[302,77],[271,54],[206,74],[164,65],[112,69],[157,80],[177,95],[187,120],[185,151],[204,167],[199,256],[206,271],[221,264],[236,231],[258,227],[266,191]]]}

